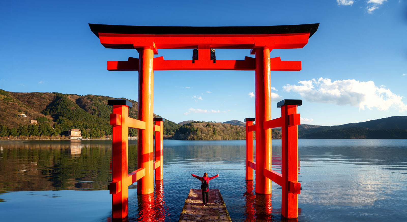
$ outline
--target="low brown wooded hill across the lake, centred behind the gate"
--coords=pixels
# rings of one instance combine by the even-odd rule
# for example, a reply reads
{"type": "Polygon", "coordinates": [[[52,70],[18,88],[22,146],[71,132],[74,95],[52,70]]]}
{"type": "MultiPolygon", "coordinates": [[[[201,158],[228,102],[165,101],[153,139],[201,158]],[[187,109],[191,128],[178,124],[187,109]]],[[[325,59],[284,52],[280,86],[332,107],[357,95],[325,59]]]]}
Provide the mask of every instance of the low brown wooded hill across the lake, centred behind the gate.
{"type": "MultiPolygon", "coordinates": [[[[273,139],[280,139],[281,132],[272,131],[273,139]]],[[[190,121],[175,132],[173,139],[177,140],[243,140],[245,127],[230,123],[210,123],[205,121],[190,121]]]]}

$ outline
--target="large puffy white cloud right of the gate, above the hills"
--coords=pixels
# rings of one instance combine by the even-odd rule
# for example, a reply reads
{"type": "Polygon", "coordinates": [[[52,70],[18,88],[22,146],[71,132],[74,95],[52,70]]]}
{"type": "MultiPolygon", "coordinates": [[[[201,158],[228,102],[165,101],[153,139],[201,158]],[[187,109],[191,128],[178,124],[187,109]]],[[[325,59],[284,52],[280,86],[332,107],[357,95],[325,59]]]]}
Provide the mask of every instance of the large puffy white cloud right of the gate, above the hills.
{"type": "Polygon", "coordinates": [[[373,81],[346,79],[332,82],[321,77],[299,83],[300,86],[287,84],[283,89],[287,92],[298,92],[310,102],[358,106],[359,110],[365,108],[388,110],[391,107],[399,112],[407,110],[407,106],[401,101],[402,96],[394,94],[384,86],[375,86],[373,81]]]}

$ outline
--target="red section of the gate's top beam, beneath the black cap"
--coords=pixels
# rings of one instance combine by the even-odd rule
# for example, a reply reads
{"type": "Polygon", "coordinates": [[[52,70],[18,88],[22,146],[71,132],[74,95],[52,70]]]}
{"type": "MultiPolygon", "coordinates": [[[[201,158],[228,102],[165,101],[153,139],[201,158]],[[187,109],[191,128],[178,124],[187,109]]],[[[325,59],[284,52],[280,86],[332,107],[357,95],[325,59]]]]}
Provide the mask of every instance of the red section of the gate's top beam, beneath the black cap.
{"type": "Polygon", "coordinates": [[[125,34],[98,33],[100,42],[106,48],[302,48],[308,43],[310,33],[285,34],[125,34]]]}

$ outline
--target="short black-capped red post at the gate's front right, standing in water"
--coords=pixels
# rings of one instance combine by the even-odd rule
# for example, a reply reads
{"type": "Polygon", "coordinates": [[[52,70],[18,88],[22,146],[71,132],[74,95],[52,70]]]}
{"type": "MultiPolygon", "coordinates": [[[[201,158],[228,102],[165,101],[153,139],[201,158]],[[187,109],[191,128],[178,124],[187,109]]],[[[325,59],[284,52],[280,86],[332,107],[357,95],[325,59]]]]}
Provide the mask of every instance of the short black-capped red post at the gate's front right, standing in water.
{"type": "Polygon", "coordinates": [[[301,100],[294,99],[285,99],[277,104],[284,119],[281,127],[281,214],[284,218],[298,218],[298,194],[301,188],[298,182],[297,125],[300,124],[300,114],[297,113],[297,106],[301,105],[301,100]]]}

